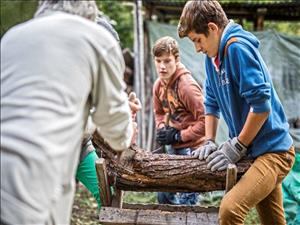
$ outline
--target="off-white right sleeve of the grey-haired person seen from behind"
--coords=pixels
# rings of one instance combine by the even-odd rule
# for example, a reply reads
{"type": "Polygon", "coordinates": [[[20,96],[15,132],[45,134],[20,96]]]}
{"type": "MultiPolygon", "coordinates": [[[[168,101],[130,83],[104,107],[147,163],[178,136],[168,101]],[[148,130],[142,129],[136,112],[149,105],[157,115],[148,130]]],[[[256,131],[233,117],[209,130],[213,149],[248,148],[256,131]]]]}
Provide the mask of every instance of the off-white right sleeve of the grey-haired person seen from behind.
{"type": "Polygon", "coordinates": [[[127,149],[133,135],[131,111],[125,93],[124,59],[119,46],[100,58],[92,118],[97,131],[116,151],[127,149]]]}

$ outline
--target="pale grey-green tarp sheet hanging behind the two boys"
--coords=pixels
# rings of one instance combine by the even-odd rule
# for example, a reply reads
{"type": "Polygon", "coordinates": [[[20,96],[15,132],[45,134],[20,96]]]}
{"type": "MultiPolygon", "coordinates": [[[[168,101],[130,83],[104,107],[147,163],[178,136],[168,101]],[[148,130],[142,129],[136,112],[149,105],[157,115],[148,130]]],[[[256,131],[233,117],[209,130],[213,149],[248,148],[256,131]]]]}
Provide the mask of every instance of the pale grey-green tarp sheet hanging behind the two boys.
{"type": "MultiPolygon", "coordinates": [[[[171,36],[179,43],[182,63],[192,72],[194,78],[202,84],[205,80],[204,55],[196,54],[193,43],[180,39],[174,25],[147,22],[150,49],[154,42],[163,36],[171,36]]],[[[254,33],[261,41],[260,52],[269,68],[274,87],[281,99],[287,117],[300,117],[300,37],[286,36],[275,31],[254,33]]],[[[152,59],[152,57],[149,57],[152,59]]],[[[152,80],[156,79],[153,60],[151,60],[152,80]]],[[[221,119],[217,141],[225,141],[228,130],[221,119]]]]}

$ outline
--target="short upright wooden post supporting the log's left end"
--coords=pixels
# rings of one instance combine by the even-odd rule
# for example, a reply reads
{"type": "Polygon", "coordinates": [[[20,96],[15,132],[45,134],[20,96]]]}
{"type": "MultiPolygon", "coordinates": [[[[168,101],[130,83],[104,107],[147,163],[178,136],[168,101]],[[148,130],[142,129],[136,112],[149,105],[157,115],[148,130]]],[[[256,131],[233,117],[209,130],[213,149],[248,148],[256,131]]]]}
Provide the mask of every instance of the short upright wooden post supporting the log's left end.
{"type": "Polygon", "coordinates": [[[100,158],[96,161],[96,171],[99,182],[100,199],[103,206],[111,205],[111,191],[107,179],[105,159],[100,158]]]}

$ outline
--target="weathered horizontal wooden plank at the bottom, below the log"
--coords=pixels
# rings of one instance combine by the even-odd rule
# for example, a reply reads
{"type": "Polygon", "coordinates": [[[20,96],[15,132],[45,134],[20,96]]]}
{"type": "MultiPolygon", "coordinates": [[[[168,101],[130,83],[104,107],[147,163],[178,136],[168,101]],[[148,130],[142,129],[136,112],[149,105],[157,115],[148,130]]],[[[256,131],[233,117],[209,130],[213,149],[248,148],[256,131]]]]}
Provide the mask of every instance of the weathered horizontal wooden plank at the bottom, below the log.
{"type": "Polygon", "coordinates": [[[217,225],[217,212],[168,212],[102,207],[99,214],[103,225],[217,225]]]}

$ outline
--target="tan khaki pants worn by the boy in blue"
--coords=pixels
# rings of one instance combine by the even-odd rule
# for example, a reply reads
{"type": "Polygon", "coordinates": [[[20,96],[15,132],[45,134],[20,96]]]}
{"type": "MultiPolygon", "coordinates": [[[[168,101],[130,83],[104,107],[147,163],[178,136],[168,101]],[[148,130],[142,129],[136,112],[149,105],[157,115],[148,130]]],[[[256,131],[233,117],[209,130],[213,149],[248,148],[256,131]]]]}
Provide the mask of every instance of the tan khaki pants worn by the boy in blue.
{"type": "Polygon", "coordinates": [[[284,225],[281,182],[295,159],[294,147],[288,152],[258,157],[239,182],[224,196],[220,205],[220,225],[244,224],[249,210],[256,206],[261,224],[284,225]]]}

